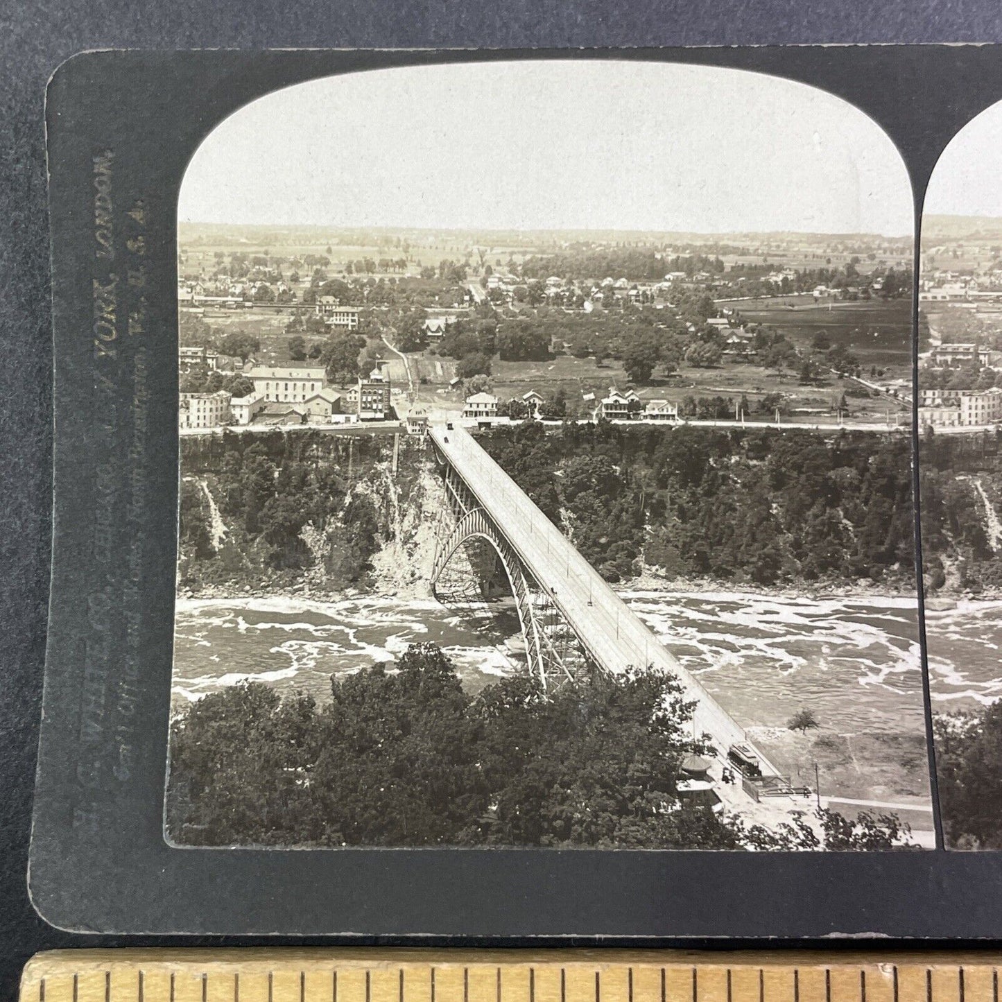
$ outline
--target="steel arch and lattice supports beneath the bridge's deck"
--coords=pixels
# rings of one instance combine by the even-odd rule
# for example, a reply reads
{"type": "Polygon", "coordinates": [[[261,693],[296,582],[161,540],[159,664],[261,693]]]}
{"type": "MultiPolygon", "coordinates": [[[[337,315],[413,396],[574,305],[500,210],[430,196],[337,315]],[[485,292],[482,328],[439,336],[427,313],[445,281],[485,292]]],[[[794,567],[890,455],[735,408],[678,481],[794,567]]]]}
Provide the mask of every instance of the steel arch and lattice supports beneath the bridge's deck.
{"type": "Polygon", "coordinates": [[[440,582],[457,551],[469,544],[485,543],[496,556],[511,588],[525,643],[529,671],[544,691],[573,680],[591,662],[577,635],[560,614],[547,590],[519,559],[507,537],[479,504],[453,467],[442,464],[447,504],[435,534],[431,585],[441,597],[440,582]]]}

